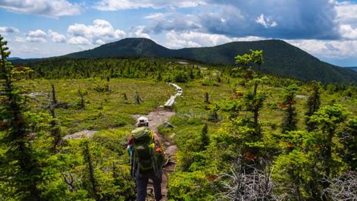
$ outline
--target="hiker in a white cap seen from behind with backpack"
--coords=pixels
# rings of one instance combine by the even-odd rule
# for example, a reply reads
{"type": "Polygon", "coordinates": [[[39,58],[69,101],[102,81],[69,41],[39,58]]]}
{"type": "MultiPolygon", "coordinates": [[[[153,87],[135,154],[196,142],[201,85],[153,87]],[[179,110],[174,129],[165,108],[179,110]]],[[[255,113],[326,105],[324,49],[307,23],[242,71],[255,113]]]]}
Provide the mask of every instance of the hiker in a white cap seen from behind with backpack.
{"type": "Polygon", "coordinates": [[[149,119],[139,117],[137,128],[132,131],[128,141],[131,174],[137,184],[137,201],[144,201],[149,179],[153,181],[155,200],[161,200],[161,174],[164,156],[162,148],[150,129],[149,119]]]}

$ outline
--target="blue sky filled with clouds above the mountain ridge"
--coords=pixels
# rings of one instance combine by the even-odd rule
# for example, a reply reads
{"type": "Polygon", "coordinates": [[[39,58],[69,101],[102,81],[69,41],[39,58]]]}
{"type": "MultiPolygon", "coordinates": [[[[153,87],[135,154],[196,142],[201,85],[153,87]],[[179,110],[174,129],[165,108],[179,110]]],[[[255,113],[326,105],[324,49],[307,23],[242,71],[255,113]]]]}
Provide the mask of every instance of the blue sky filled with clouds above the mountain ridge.
{"type": "Polygon", "coordinates": [[[127,37],[165,47],[278,38],[338,66],[357,66],[357,1],[0,0],[12,57],[52,57],[127,37]]]}

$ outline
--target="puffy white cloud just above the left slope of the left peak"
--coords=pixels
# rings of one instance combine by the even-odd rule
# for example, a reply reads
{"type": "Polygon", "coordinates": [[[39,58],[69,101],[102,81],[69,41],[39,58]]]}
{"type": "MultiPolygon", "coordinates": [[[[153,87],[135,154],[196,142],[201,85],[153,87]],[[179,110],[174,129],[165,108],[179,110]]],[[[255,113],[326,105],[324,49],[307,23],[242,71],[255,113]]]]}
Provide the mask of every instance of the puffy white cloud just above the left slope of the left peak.
{"type": "Polygon", "coordinates": [[[78,45],[102,45],[126,36],[126,32],[114,29],[105,20],[94,20],[93,25],[73,24],[68,27],[67,32],[68,43],[78,45]]]}

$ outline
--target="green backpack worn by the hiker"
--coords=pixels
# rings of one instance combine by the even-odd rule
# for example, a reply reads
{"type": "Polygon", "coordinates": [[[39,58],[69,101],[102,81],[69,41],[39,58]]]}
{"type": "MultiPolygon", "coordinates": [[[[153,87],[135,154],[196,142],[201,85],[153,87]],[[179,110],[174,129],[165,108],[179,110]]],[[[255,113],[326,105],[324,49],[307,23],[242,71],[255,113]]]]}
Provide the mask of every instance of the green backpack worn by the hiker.
{"type": "Polygon", "coordinates": [[[159,175],[160,160],[155,152],[153,133],[149,128],[139,127],[132,131],[132,137],[132,176],[151,171],[159,175]]]}

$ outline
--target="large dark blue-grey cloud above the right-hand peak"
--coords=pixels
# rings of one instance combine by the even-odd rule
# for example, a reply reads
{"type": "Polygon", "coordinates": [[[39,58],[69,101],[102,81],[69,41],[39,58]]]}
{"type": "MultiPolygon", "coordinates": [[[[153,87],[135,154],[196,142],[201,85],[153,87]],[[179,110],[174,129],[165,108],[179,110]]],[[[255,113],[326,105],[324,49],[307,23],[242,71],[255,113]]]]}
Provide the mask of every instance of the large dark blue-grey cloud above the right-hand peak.
{"type": "Polygon", "coordinates": [[[209,6],[199,6],[190,14],[155,17],[147,26],[148,31],[198,31],[229,37],[286,39],[340,37],[334,1],[206,0],[206,3],[209,6]]]}

